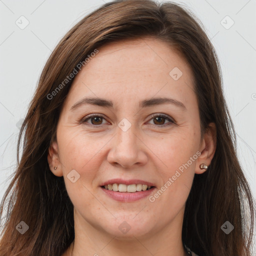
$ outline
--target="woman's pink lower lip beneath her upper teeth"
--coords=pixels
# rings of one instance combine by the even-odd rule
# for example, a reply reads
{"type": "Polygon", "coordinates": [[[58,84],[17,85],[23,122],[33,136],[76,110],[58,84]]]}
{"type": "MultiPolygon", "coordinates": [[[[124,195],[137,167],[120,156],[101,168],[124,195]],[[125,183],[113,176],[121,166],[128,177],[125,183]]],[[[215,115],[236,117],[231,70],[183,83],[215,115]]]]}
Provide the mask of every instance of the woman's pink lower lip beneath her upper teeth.
{"type": "Polygon", "coordinates": [[[151,194],[154,191],[156,187],[153,187],[145,191],[137,191],[137,192],[119,192],[119,191],[108,190],[103,187],[100,187],[100,188],[108,196],[110,196],[111,198],[117,201],[129,202],[129,201],[135,201],[135,200],[139,200],[144,197],[147,197],[149,194],[151,194]]]}

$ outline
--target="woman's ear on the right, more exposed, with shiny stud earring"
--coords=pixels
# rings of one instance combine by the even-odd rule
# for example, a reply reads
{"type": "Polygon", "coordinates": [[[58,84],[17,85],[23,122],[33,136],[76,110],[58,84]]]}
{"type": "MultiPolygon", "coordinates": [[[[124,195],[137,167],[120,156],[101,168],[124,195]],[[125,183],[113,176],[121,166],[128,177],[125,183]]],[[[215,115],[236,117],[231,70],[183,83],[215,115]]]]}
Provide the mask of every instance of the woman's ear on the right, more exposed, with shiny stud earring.
{"type": "Polygon", "coordinates": [[[205,130],[203,139],[200,144],[201,154],[198,156],[196,161],[195,173],[201,174],[206,169],[200,169],[200,164],[204,163],[207,166],[210,165],[211,159],[214,156],[216,150],[216,125],[214,122],[208,124],[205,130]]]}

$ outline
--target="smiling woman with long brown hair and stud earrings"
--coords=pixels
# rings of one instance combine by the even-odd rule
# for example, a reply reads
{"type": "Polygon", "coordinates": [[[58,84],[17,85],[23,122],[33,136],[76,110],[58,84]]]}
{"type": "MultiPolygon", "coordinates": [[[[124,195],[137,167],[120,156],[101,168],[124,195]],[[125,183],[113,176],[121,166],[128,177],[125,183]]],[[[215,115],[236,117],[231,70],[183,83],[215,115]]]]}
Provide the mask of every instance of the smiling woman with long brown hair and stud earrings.
{"type": "Polygon", "coordinates": [[[18,148],[23,132],[0,255],[252,255],[218,59],[181,6],[84,17],[46,62],[18,148]]]}

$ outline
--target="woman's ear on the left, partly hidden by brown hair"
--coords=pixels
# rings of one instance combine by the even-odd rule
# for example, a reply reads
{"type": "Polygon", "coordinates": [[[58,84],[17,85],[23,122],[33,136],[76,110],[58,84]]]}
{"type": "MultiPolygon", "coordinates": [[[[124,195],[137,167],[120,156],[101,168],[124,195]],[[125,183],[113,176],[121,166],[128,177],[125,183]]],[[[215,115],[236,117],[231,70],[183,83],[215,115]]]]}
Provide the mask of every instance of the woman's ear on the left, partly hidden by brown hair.
{"type": "Polygon", "coordinates": [[[51,172],[56,176],[59,176],[59,177],[63,176],[62,164],[58,156],[57,141],[51,142],[48,148],[47,160],[48,160],[48,164],[51,172]],[[54,169],[55,166],[57,167],[56,169],[54,169]]]}

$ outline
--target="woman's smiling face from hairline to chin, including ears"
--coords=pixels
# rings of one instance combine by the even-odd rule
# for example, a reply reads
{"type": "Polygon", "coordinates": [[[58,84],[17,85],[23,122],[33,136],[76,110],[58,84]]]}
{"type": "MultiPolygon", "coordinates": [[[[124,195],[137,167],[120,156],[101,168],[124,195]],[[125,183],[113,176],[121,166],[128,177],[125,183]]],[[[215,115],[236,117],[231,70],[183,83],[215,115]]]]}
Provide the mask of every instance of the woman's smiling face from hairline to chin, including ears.
{"type": "Polygon", "coordinates": [[[193,75],[181,55],[157,39],[98,50],[72,83],[48,162],[63,175],[80,225],[149,237],[182,224],[194,173],[205,171],[199,164],[212,157],[200,139],[193,75]],[[102,187],[113,183],[123,184],[112,185],[115,190],[151,188],[102,187]]]}

